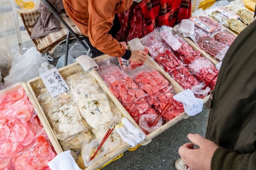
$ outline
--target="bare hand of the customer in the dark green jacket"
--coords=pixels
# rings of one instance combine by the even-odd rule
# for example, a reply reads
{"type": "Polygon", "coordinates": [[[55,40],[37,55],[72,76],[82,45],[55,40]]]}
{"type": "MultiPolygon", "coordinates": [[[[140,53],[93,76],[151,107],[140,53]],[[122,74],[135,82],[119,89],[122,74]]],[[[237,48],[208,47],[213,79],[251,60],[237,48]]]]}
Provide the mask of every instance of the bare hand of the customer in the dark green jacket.
{"type": "Polygon", "coordinates": [[[179,148],[182,161],[191,170],[211,170],[212,156],[218,145],[199,134],[188,134],[192,143],[186,143],[179,148]],[[199,148],[194,148],[194,144],[199,148]]]}

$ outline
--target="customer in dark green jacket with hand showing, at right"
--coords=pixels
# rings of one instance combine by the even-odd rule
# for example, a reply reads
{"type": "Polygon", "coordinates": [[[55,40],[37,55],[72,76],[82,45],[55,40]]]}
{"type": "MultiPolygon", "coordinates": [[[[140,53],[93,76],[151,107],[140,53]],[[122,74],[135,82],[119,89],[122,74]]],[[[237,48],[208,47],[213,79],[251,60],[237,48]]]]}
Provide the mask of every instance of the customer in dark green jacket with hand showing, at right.
{"type": "Polygon", "coordinates": [[[227,51],[208,102],[206,138],[188,135],[183,162],[191,170],[256,170],[256,21],[227,51]]]}

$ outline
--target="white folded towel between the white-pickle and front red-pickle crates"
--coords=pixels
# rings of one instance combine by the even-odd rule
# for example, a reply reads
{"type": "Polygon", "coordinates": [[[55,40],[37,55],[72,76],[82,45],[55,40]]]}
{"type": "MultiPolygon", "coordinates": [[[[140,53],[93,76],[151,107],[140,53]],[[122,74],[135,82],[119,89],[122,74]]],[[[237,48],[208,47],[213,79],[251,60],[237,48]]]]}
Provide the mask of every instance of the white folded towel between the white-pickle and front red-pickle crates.
{"type": "Polygon", "coordinates": [[[116,132],[122,140],[135,147],[145,139],[145,133],[131,124],[127,118],[122,119],[121,125],[116,125],[116,132]]]}

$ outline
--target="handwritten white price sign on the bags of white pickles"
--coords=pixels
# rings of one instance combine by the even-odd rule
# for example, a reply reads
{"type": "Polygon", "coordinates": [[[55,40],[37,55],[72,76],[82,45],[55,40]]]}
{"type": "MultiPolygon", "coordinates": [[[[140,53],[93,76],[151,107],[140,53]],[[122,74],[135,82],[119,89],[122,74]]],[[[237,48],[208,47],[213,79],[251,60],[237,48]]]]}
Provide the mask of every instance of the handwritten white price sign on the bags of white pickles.
{"type": "Polygon", "coordinates": [[[58,96],[58,94],[69,90],[66,82],[61,77],[61,74],[58,72],[57,68],[52,68],[39,76],[52,97],[58,96]]]}

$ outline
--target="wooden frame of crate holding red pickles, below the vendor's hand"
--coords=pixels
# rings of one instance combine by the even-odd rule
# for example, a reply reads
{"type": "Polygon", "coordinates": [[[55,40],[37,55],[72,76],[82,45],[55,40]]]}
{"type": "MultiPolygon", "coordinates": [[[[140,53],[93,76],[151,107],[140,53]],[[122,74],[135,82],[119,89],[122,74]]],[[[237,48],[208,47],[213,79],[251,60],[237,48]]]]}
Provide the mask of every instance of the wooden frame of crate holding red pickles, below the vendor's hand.
{"type": "MultiPolygon", "coordinates": [[[[149,56],[148,56],[149,57],[149,56]]],[[[94,58],[96,62],[102,61],[104,59],[109,59],[111,58],[111,56],[109,55],[102,55],[99,57],[94,58]]],[[[145,62],[146,65],[148,65],[151,68],[154,68],[155,70],[159,71],[160,74],[163,75],[164,78],[166,78],[169,81],[169,85],[172,85],[175,93],[180,93],[181,91],[183,91],[183,88],[180,87],[180,85],[178,85],[177,82],[175,82],[174,79],[172,79],[172,77],[170,77],[165,71],[163,71],[162,68],[157,67],[156,65],[154,65],[151,61],[146,60],[145,62]]],[[[108,96],[111,97],[112,101],[116,104],[116,106],[118,108],[120,108],[120,110],[122,111],[123,115],[125,117],[127,117],[127,119],[129,119],[129,121],[136,127],[138,127],[139,129],[141,129],[139,127],[139,125],[134,121],[134,119],[131,117],[131,115],[128,113],[128,111],[126,111],[126,109],[123,107],[123,105],[119,102],[119,100],[116,98],[116,96],[114,96],[111,92],[111,90],[108,88],[108,85],[103,81],[103,79],[100,77],[100,75],[97,73],[97,71],[93,70],[90,71],[90,73],[93,75],[93,77],[95,77],[97,79],[97,81],[99,82],[99,85],[102,87],[102,89],[108,94],[108,96]]],[[[170,127],[172,127],[173,125],[175,125],[177,122],[179,122],[182,119],[186,119],[189,116],[183,112],[181,113],[179,116],[177,116],[175,119],[170,120],[169,122],[167,122],[165,125],[159,127],[157,130],[154,130],[152,133],[146,135],[145,139],[143,142],[141,142],[142,145],[146,145],[149,142],[151,142],[151,139],[153,139],[155,136],[159,135],[160,133],[162,133],[163,131],[169,129],[170,127]]]]}

